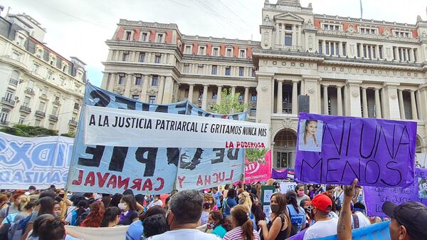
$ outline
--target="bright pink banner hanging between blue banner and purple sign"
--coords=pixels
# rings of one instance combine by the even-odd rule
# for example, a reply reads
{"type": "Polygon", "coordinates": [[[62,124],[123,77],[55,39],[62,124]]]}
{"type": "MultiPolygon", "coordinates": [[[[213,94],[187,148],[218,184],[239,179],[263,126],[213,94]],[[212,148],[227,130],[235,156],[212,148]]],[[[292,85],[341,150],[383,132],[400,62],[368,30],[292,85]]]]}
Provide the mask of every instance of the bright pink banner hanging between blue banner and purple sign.
{"type": "Polygon", "coordinates": [[[271,176],[271,151],[265,153],[264,162],[246,160],[245,183],[267,181],[271,176]]]}

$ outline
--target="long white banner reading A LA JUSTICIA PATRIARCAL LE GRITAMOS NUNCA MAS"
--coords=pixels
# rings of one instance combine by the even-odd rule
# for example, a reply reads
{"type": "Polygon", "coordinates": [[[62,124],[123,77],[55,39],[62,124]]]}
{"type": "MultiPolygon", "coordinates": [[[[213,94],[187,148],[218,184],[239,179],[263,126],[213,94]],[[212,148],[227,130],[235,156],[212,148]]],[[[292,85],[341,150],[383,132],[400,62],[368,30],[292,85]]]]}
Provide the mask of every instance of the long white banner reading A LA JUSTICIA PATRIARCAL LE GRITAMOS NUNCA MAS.
{"type": "Polygon", "coordinates": [[[85,106],[85,145],[265,148],[267,124],[85,106]]]}

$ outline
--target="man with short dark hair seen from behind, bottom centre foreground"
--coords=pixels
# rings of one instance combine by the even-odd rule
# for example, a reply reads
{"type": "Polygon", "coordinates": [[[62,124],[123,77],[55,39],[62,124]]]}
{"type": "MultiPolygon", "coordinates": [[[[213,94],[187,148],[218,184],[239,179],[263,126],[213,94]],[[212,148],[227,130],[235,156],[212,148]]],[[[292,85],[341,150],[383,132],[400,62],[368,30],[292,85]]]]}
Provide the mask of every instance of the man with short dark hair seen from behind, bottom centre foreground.
{"type": "Polygon", "coordinates": [[[170,231],[149,240],[203,239],[219,240],[214,234],[205,234],[196,229],[199,226],[203,195],[196,190],[184,190],[171,197],[167,224],[170,231]]]}

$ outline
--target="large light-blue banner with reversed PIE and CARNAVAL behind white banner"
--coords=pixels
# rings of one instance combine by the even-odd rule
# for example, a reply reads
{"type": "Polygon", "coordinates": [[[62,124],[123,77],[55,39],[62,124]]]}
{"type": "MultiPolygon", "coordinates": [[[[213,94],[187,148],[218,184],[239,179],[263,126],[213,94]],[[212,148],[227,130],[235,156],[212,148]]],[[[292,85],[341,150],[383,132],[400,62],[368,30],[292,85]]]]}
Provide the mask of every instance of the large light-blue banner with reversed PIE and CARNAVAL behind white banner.
{"type": "MultiPolygon", "coordinates": [[[[188,101],[169,105],[140,103],[89,83],[86,85],[83,103],[88,106],[103,108],[120,108],[157,113],[180,115],[198,115],[206,118],[222,118],[231,120],[246,120],[246,113],[233,115],[215,115],[207,113],[188,101]]],[[[83,111],[82,111],[83,115],[83,111]]],[[[75,192],[122,193],[132,189],[135,194],[162,194],[171,192],[179,187],[178,169],[188,169],[198,174],[204,174],[209,179],[216,169],[231,174],[228,160],[241,162],[241,167],[234,169],[234,179],[241,179],[243,174],[244,155],[233,148],[177,148],[177,147],[128,147],[109,145],[85,145],[83,143],[83,118],[80,115],[76,147],[70,164],[67,186],[75,192]],[[203,159],[204,164],[201,164],[203,159]],[[209,164],[207,164],[209,162],[209,164]],[[224,163],[226,162],[226,163],[224,163]]],[[[120,138],[128,136],[122,135],[120,138]]],[[[181,176],[182,177],[182,176],[181,176]]],[[[218,177],[219,178],[219,177],[218,177]]],[[[218,179],[218,184],[226,184],[229,177],[218,179]],[[220,181],[222,180],[222,181],[220,181]]],[[[215,180],[215,179],[214,179],[215,180]]],[[[211,180],[214,182],[214,180],[211,180]]],[[[207,182],[207,181],[206,181],[207,182]]],[[[184,181],[183,181],[184,183],[184,181]]],[[[197,181],[183,184],[189,189],[204,189],[197,181]]],[[[200,182],[199,182],[200,183],[200,182]]]]}

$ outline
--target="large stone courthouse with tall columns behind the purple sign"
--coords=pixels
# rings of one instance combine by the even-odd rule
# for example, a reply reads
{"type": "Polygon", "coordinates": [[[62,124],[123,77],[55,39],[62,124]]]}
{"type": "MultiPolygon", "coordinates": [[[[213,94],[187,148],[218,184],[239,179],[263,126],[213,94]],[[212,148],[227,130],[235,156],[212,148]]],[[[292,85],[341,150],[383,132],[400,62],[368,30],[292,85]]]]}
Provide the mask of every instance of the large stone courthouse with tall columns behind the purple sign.
{"type": "Polygon", "coordinates": [[[310,96],[310,113],[416,121],[416,151],[427,151],[427,21],[314,14],[298,0],[265,0],[262,11],[260,42],[120,19],[102,88],[206,110],[229,88],[250,120],[271,125],[273,167],[294,165],[298,95],[310,96]]]}

